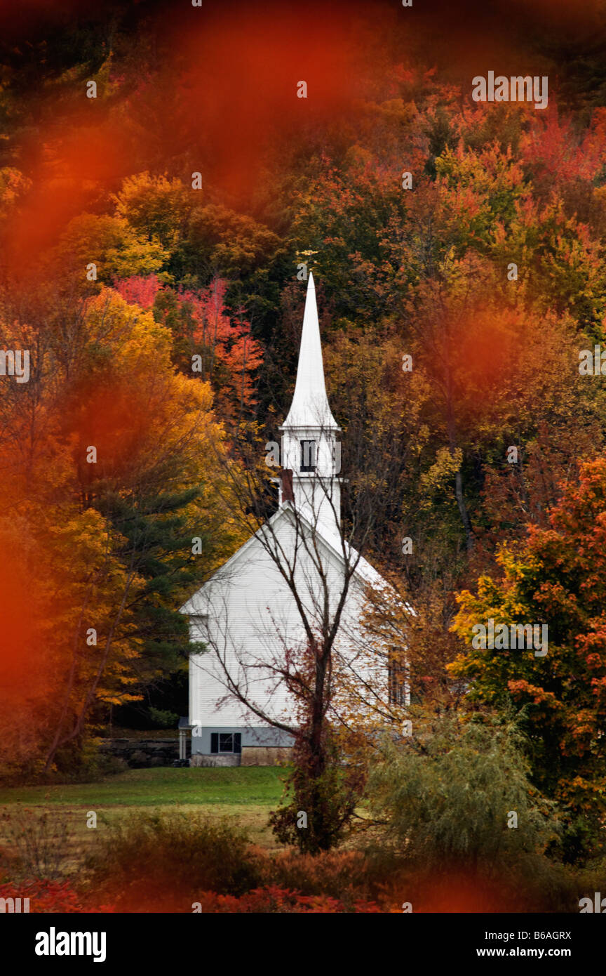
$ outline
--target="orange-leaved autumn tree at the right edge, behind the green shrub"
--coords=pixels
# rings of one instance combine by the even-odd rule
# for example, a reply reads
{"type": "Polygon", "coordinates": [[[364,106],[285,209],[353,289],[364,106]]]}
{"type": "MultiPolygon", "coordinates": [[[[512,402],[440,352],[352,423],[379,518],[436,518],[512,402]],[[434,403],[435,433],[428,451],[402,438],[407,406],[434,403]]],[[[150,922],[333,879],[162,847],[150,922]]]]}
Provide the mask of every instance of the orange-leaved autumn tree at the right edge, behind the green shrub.
{"type": "Polygon", "coordinates": [[[519,551],[502,550],[501,579],[482,576],[475,593],[459,594],[454,625],[467,649],[451,671],[469,682],[474,701],[516,710],[528,737],[533,781],[567,811],[564,850],[570,860],[602,846],[605,502],[601,455],[568,483],[548,526],[531,526],[519,551]],[[546,625],[547,655],[474,646],[474,625],[489,619],[495,626],[546,625]]]}

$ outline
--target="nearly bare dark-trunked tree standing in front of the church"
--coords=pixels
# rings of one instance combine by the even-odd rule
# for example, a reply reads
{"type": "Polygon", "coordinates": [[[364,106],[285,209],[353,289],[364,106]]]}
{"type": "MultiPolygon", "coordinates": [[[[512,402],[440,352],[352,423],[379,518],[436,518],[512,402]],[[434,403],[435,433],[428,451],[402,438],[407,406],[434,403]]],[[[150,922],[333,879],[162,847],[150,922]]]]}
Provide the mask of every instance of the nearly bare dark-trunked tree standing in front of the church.
{"type": "MultiPolygon", "coordinates": [[[[397,495],[398,445],[372,445],[348,486],[339,477],[334,427],[319,422],[313,432],[319,454],[327,445],[333,464],[328,470],[319,464],[309,479],[291,468],[272,477],[262,441],[249,428],[241,428],[231,455],[223,456],[226,508],[251,537],[244,553],[246,571],[265,574],[268,595],[274,588],[287,598],[279,607],[270,600],[254,623],[255,634],[243,639],[234,626],[230,596],[240,585],[238,570],[228,561],[203,590],[203,636],[211,655],[208,667],[225,696],[294,737],[293,803],[274,814],[274,826],[284,839],[318,850],[341,834],[360,789],[360,776],[343,770],[336,748],[337,726],[348,725],[348,710],[341,714],[338,708],[339,689],[357,687],[360,710],[394,719],[387,655],[373,657],[368,647],[364,655],[360,648],[368,590],[385,586],[362,553],[374,538],[377,511],[397,495]],[[276,482],[279,506],[270,514],[276,482]],[[347,491],[343,520],[342,487],[354,489],[347,491]],[[268,695],[268,688],[276,694],[268,695]],[[307,831],[297,831],[297,811],[310,817],[307,831]]],[[[204,658],[201,667],[206,667],[204,658]]]]}

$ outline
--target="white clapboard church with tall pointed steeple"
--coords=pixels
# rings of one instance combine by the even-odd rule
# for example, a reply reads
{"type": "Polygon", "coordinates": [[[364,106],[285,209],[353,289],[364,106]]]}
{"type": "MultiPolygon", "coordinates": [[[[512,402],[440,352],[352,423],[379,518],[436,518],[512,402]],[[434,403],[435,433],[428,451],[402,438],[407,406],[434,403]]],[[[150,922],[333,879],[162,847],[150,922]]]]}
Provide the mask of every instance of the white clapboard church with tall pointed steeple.
{"type": "MultiPolygon", "coordinates": [[[[287,758],[299,720],[289,678],[304,660],[310,634],[325,633],[334,622],[344,591],[332,680],[363,688],[385,688],[389,680],[385,659],[369,664],[367,648],[362,651],[367,588],[386,584],[340,531],[340,427],[326,396],[312,274],[296,385],[280,429],[278,509],[181,607],[191,640],[206,648],[190,656],[189,716],[179,728],[182,759],[191,731],[192,765],[270,765],[287,758]]],[[[407,689],[398,694],[407,696],[407,689]]]]}

